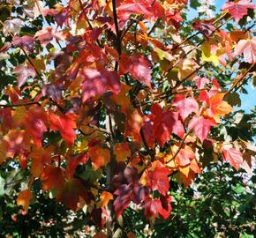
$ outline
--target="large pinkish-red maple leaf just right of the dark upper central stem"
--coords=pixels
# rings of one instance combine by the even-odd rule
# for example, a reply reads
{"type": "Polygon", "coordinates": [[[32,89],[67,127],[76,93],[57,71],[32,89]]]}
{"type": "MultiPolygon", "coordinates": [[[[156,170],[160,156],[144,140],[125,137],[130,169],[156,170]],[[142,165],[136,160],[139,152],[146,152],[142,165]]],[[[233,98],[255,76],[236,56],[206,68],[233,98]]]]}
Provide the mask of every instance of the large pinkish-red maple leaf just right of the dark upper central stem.
{"type": "Polygon", "coordinates": [[[139,80],[151,88],[151,63],[142,54],[127,56],[123,54],[120,59],[120,73],[124,74],[129,72],[133,79],[139,80]]]}

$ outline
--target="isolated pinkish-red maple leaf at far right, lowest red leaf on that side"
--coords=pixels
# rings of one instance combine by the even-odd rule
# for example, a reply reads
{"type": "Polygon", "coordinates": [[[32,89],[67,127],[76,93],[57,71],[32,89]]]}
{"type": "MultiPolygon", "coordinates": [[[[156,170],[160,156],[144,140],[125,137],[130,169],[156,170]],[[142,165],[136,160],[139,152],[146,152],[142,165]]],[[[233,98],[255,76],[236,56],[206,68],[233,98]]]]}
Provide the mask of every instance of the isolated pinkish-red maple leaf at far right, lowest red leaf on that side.
{"type": "Polygon", "coordinates": [[[230,163],[232,167],[235,167],[237,170],[243,164],[243,155],[240,151],[235,148],[226,148],[222,147],[222,156],[223,160],[226,160],[230,163]]]}

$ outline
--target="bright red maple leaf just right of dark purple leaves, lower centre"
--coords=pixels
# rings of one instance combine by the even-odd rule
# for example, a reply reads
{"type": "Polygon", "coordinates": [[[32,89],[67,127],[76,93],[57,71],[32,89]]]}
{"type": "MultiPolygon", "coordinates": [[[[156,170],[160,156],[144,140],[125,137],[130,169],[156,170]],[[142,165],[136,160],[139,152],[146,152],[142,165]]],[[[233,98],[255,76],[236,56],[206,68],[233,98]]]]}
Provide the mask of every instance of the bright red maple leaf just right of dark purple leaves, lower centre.
{"type": "Polygon", "coordinates": [[[147,171],[147,186],[152,190],[158,190],[162,195],[169,191],[169,168],[155,167],[154,171],[147,171]]]}

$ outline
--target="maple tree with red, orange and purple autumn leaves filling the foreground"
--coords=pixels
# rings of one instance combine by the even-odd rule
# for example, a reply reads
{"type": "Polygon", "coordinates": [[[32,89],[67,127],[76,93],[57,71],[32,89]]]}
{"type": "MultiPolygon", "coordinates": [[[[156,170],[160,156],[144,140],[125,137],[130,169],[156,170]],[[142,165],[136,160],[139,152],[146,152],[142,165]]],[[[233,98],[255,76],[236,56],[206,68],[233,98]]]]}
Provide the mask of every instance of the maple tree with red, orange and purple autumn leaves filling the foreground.
{"type": "Polygon", "coordinates": [[[112,237],[129,209],[151,225],[171,219],[172,182],[189,189],[209,158],[252,171],[253,123],[240,135],[234,106],[237,90],[255,84],[256,6],[230,1],[214,19],[193,21],[188,7],[186,0],[0,4],[0,162],[26,171],[16,191],[22,215],[42,199],[36,186],[83,211],[102,230],[96,235],[112,237]]]}

